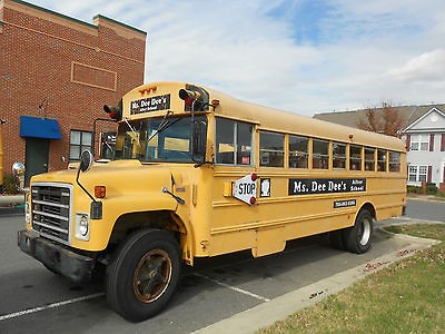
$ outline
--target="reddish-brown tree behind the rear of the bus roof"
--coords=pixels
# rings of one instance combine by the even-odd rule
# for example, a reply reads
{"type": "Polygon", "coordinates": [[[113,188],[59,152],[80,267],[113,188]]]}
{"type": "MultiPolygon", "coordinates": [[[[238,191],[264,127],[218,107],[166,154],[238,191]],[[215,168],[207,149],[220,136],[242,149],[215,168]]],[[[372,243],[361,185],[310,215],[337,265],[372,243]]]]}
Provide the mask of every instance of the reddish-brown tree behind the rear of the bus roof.
{"type": "Polygon", "coordinates": [[[369,107],[365,117],[357,122],[363,130],[397,137],[403,119],[392,104],[383,102],[380,108],[369,107]]]}

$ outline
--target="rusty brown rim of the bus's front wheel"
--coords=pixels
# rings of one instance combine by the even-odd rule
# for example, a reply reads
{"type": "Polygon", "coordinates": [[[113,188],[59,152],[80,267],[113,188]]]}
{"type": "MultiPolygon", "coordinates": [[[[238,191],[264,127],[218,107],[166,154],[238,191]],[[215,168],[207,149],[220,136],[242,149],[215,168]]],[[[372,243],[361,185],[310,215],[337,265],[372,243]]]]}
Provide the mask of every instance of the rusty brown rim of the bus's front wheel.
{"type": "Polygon", "coordinates": [[[138,263],[134,275],[134,291],[142,303],[158,299],[171,281],[172,264],[167,252],[152,249],[138,263]]]}

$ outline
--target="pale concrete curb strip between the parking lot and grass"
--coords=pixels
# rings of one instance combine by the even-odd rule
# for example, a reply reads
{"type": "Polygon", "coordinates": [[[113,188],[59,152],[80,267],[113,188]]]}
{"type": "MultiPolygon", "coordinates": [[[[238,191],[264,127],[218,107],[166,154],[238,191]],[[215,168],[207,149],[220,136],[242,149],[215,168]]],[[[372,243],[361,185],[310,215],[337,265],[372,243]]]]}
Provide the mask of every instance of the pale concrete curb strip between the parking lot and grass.
{"type": "MultiPolygon", "coordinates": [[[[382,229],[382,228],[378,228],[382,229]]],[[[304,286],[287,293],[269,302],[261,303],[253,308],[238,313],[207,327],[200,328],[195,334],[226,334],[226,333],[253,333],[263,327],[273,325],[277,321],[285,320],[295,312],[313,306],[329,295],[336,294],[352,284],[378,272],[389,265],[407,258],[416,250],[429,248],[439,244],[439,240],[413,237],[402,234],[393,234],[396,238],[409,242],[409,245],[393,253],[375,258],[372,263],[363,264],[345,272],[335,274],[314,284],[304,286]]]]}

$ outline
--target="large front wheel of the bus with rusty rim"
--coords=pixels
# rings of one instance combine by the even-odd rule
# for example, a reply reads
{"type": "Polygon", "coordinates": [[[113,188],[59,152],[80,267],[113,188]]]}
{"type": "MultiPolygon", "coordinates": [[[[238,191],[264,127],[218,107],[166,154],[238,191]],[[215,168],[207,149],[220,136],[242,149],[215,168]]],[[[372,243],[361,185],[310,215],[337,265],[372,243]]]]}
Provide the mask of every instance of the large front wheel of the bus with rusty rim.
{"type": "Polygon", "coordinates": [[[131,234],[107,266],[108,304],[129,322],[159,313],[179,282],[181,259],[174,236],[160,229],[131,234]]]}

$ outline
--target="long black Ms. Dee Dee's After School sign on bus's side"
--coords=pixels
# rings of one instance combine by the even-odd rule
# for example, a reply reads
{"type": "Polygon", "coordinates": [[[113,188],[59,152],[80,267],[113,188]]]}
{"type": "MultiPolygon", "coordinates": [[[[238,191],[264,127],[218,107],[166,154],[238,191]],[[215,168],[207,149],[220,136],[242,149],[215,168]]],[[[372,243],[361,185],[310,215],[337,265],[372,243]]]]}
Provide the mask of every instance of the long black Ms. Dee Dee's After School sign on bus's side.
{"type": "Polygon", "coordinates": [[[366,190],[366,178],[289,178],[289,195],[356,193],[366,190]]]}

